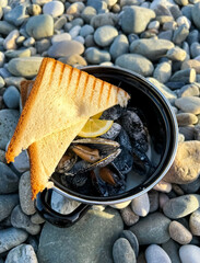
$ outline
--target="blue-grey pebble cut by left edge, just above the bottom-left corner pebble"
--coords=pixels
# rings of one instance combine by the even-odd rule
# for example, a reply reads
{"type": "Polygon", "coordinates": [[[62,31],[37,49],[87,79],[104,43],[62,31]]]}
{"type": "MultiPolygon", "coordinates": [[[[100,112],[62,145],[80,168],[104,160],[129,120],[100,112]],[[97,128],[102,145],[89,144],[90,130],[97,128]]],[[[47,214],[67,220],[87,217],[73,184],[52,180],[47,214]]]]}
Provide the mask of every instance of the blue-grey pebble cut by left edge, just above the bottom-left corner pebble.
{"type": "Polygon", "coordinates": [[[27,236],[27,232],[22,229],[7,228],[0,230],[0,253],[25,242],[27,236]]]}

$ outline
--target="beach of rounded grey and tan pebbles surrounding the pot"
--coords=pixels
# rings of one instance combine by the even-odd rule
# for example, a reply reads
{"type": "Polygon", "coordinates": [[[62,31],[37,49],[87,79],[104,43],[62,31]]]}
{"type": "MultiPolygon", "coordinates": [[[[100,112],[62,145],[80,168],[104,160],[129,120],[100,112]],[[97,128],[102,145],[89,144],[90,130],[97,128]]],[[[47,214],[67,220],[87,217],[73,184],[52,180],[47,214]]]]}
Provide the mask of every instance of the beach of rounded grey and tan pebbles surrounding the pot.
{"type": "MultiPolygon", "coordinates": [[[[0,0],[0,263],[200,262],[200,1],[0,0]],[[74,67],[116,66],[170,102],[175,161],[153,190],[94,206],[74,226],[45,222],[31,201],[30,162],[5,163],[20,116],[20,83],[43,57],[74,67]]],[[[78,206],[52,193],[51,206],[78,206]]]]}

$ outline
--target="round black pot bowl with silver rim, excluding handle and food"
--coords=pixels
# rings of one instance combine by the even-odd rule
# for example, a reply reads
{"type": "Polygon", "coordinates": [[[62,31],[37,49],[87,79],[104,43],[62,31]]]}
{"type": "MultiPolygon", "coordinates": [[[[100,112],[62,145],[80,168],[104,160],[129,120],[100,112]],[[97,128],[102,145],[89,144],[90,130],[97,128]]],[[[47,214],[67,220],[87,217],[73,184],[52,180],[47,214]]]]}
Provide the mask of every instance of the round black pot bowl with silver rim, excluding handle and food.
{"type": "Polygon", "coordinates": [[[150,134],[150,147],[146,152],[154,169],[145,175],[131,171],[127,175],[127,187],[122,194],[109,197],[89,196],[77,193],[62,185],[58,174],[51,181],[56,187],[81,202],[126,201],[152,188],[167,172],[174,161],[177,148],[177,124],[172,108],[162,93],[143,77],[113,67],[86,67],[84,71],[126,90],[131,99],[129,106],[139,108],[145,116],[150,134]]]}

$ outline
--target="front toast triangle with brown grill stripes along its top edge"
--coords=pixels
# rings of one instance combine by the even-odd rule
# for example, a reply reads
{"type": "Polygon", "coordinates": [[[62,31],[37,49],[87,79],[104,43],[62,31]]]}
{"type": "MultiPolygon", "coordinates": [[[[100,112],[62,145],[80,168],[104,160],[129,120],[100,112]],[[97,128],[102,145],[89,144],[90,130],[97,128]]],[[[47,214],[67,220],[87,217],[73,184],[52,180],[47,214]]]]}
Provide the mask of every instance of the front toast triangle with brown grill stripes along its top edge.
{"type": "Polygon", "coordinates": [[[14,161],[23,149],[50,134],[83,123],[116,104],[126,106],[129,99],[116,85],[44,58],[5,153],[7,161],[14,161]]]}

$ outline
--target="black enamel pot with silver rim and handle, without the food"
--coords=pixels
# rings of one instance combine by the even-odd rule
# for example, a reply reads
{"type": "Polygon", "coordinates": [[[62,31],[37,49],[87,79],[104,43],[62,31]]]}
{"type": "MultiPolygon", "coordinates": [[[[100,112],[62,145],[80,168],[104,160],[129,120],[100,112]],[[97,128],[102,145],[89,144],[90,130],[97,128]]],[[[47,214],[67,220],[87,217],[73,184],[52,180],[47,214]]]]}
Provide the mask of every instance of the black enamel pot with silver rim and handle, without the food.
{"type": "Polygon", "coordinates": [[[62,185],[60,176],[52,175],[54,187],[39,193],[35,206],[47,221],[59,227],[71,226],[85,214],[91,205],[114,205],[133,199],[150,191],[170,168],[178,144],[176,116],[161,91],[145,78],[115,67],[91,66],[82,70],[122,88],[131,95],[130,106],[141,110],[145,116],[151,138],[149,158],[154,163],[155,169],[148,176],[130,173],[126,191],[122,194],[109,197],[87,196],[77,193],[62,185]],[[50,206],[52,190],[82,204],[69,215],[59,214],[50,206]]]}

